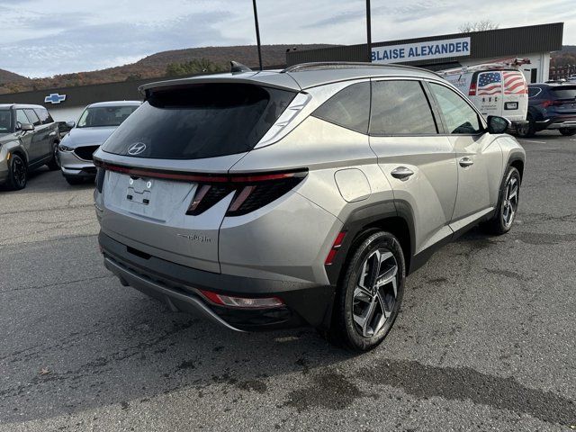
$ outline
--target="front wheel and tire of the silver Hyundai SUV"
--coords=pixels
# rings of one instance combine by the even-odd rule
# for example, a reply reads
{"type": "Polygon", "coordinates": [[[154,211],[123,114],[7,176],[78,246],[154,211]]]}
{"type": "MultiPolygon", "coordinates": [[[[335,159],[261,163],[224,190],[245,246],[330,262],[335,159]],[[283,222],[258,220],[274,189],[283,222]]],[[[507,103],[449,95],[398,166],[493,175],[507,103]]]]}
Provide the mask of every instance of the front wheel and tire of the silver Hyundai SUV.
{"type": "Polygon", "coordinates": [[[502,186],[500,187],[496,213],[491,220],[481,225],[484,231],[500,236],[506,234],[512,228],[516,215],[518,214],[520,185],[521,178],[518,169],[514,166],[509,166],[504,176],[504,182],[502,182],[502,186]],[[515,198],[510,199],[510,195],[513,193],[515,186],[517,187],[515,198]],[[512,211],[511,216],[509,215],[509,211],[512,211]]]}

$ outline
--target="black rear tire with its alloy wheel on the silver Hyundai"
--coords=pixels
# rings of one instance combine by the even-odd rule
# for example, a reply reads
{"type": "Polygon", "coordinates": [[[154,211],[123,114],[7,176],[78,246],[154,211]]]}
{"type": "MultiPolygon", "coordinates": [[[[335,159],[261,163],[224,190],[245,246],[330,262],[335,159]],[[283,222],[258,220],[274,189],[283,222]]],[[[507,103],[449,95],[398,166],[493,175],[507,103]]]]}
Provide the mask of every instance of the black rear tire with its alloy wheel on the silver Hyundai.
{"type": "Polygon", "coordinates": [[[392,329],[401,308],[406,266],[400,242],[391,233],[385,231],[371,233],[357,242],[356,247],[351,249],[350,253],[352,255],[347,260],[345,273],[338,283],[332,322],[327,337],[330,342],[340,347],[363,352],[377,347],[392,329]],[[377,253],[382,254],[380,257],[387,257],[388,253],[391,256],[379,264],[378,274],[374,275],[375,266],[367,263],[375,263],[379,258],[374,257],[377,253]],[[395,274],[392,269],[394,265],[396,266],[395,274]],[[365,272],[366,269],[367,272],[365,272]],[[365,288],[360,288],[361,285],[365,287],[367,284],[365,283],[366,277],[372,281],[384,282],[378,289],[374,289],[376,284],[370,284],[371,288],[367,291],[375,294],[372,297],[365,292],[365,288]],[[393,283],[385,283],[386,280],[392,281],[392,279],[393,283]],[[395,297],[393,284],[396,284],[395,297]],[[373,303],[374,309],[371,309],[373,303]],[[384,310],[387,313],[383,313],[384,310]],[[364,311],[366,313],[361,313],[364,311]],[[370,311],[374,311],[372,315],[370,311]],[[357,320],[363,316],[372,318],[365,320],[365,326],[361,326],[355,320],[355,316],[357,320]],[[371,331],[372,334],[370,334],[371,331]]]}

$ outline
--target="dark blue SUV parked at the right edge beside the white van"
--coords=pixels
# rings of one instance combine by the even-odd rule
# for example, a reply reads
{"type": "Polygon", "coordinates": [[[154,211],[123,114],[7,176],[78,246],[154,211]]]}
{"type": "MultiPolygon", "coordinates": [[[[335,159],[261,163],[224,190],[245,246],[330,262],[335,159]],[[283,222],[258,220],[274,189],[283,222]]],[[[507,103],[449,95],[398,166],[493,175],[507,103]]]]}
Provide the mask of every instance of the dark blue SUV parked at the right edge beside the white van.
{"type": "Polygon", "coordinates": [[[528,85],[528,128],[524,137],[539,130],[558,130],[570,137],[576,133],[576,84],[528,85]]]}

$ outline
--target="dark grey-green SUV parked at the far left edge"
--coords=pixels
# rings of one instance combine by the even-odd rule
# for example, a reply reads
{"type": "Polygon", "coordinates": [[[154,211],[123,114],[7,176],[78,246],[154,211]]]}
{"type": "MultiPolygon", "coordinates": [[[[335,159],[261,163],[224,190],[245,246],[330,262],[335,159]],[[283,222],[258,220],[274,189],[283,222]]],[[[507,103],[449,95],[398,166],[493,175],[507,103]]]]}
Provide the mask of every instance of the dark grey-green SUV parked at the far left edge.
{"type": "Polygon", "coordinates": [[[23,189],[28,173],[58,169],[58,125],[40,105],[0,104],[0,184],[23,189]]]}

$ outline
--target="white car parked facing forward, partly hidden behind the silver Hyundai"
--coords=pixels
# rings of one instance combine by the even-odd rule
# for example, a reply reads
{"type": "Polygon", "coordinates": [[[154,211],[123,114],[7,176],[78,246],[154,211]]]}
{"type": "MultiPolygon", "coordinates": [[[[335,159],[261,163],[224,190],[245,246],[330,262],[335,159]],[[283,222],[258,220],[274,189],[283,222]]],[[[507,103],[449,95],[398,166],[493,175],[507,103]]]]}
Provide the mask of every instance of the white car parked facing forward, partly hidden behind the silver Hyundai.
{"type": "Polygon", "coordinates": [[[67,122],[70,131],[62,139],[58,155],[62,175],[69,184],[81,184],[86,179],[94,180],[94,151],[139,105],[139,101],[92,103],[85,107],[77,123],[67,122]]]}

